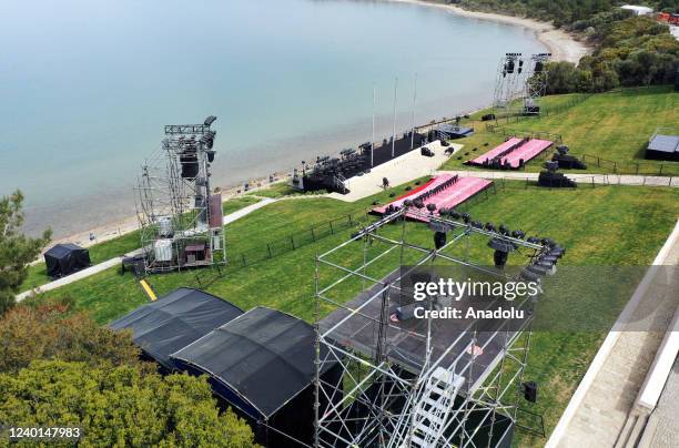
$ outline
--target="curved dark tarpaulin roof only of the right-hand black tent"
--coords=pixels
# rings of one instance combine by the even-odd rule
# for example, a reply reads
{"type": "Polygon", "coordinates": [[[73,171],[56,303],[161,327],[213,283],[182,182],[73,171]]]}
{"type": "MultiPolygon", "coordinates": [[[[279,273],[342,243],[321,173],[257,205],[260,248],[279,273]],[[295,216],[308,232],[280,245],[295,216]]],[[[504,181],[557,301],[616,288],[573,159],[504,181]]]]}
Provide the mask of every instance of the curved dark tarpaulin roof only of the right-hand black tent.
{"type": "Polygon", "coordinates": [[[172,358],[206,373],[268,418],[313,381],[314,342],[304,320],[256,307],[172,358]]]}

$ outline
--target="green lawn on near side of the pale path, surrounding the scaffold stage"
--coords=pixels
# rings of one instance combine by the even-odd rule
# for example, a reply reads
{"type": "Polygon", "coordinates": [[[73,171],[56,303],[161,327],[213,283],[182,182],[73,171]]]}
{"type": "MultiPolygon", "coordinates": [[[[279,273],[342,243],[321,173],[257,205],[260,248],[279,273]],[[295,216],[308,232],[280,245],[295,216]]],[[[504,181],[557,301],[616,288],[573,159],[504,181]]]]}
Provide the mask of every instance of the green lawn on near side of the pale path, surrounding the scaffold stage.
{"type": "MultiPolygon", "coordinates": [[[[385,194],[378,198],[384,200],[385,194]]],[[[326,220],[352,210],[359,212],[373,200],[349,204],[330,198],[304,198],[267,205],[227,226],[230,250],[251,247],[306,228],[310,221],[326,220]]],[[[643,265],[652,261],[679,215],[679,191],[626,186],[548,191],[524,189],[508,182],[497,194],[472,205],[469,212],[479,221],[503,222],[529,234],[557,240],[568,248],[564,263],[569,265],[643,265]]],[[[426,226],[408,224],[408,232],[419,244],[432,245],[432,234],[426,226]]],[[[349,233],[348,230],[340,232],[224,276],[215,269],[190,271],[152,276],[150,283],[159,294],[178,286],[202,286],[244,309],[267,305],[311,320],[314,257],[345,241],[349,233]]],[[[489,251],[478,251],[477,256],[490,261],[489,251]]],[[[353,256],[357,262],[359,255],[353,256]]],[[[385,263],[375,268],[387,272],[393,267],[385,263]]],[[[352,295],[347,292],[345,299],[352,295]]],[[[121,275],[118,268],[44,296],[70,296],[78,309],[87,310],[101,324],[148,302],[134,277],[121,275]]],[[[625,297],[621,298],[624,302],[625,297]]],[[[540,399],[537,405],[530,405],[530,410],[544,415],[548,430],[556,425],[604,336],[604,332],[534,335],[527,377],[537,380],[541,388],[540,399]]],[[[521,446],[544,442],[521,432],[518,440],[521,446]]]]}

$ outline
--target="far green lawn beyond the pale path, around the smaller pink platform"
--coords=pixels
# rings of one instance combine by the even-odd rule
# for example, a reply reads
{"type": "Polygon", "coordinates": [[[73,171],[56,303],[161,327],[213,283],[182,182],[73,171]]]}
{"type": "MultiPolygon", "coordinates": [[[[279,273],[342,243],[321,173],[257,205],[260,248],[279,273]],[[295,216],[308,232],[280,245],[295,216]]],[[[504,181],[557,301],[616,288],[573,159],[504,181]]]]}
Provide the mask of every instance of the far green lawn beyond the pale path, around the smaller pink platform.
{"type": "MultiPolygon", "coordinates": [[[[560,134],[564,144],[568,145],[575,155],[587,154],[587,172],[602,173],[612,172],[616,162],[618,172],[636,173],[637,164],[639,173],[658,174],[661,162],[646,161],[643,150],[648,139],[658,126],[675,126],[679,132],[679,93],[673,92],[671,86],[650,89],[622,90],[619,92],[601,93],[596,95],[555,95],[543,100],[546,110],[553,109],[540,118],[526,118],[518,122],[500,125],[509,131],[518,132],[549,132],[560,134]],[[584,101],[564,108],[571,100],[584,101]],[[597,166],[596,159],[602,161],[597,166]]],[[[474,119],[475,116],[473,116],[474,119]]],[[[487,151],[483,146],[489,143],[488,149],[497,145],[504,140],[501,133],[490,133],[485,130],[485,123],[473,121],[477,130],[472,138],[462,139],[457,143],[465,144],[460,154],[453,156],[444,169],[466,167],[463,162],[474,159],[476,155],[487,151]],[[473,149],[478,147],[477,152],[473,149]]],[[[679,175],[679,163],[665,162],[663,175],[679,175]]],[[[539,171],[539,163],[530,163],[527,171],[539,171]]]]}

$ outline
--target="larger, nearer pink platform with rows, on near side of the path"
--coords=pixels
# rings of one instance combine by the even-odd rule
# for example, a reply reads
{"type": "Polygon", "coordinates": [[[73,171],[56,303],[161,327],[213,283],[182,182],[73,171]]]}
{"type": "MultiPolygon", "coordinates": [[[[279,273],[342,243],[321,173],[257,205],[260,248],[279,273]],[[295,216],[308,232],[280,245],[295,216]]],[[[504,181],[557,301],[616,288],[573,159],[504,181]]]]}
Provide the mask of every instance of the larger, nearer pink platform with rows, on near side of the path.
{"type": "MultiPolygon", "coordinates": [[[[422,198],[425,204],[423,210],[426,210],[428,204],[434,204],[436,205],[434,215],[438,215],[439,208],[453,208],[486,190],[491,184],[493,181],[480,177],[459,177],[456,174],[440,174],[418,189],[399,196],[396,201],[373,208],[373,213],[384,214],[389,206],[402,207],[406,200],[415,201],[416,198],[422,198]]],[[[407,214],[407,216],[423,222],[429,221],[419,214],[407,214]]]]}

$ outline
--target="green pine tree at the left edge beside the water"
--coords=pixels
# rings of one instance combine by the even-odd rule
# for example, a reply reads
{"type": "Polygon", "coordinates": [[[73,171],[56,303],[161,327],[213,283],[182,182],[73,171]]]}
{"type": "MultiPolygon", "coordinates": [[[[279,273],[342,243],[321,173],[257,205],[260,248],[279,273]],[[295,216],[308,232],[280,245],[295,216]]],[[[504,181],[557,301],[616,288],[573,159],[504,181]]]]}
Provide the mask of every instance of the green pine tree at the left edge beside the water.
{"type": "Polygon", "coordinates": [[[20,191],[0,198],[0,315],[14,304],[19,286],[28,275],[28,264],[50,242],[51,232],[30,238],[19,232],[23,224],[23,195],[20,191]]]}

